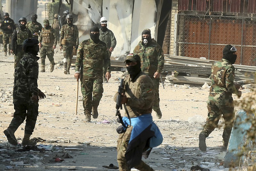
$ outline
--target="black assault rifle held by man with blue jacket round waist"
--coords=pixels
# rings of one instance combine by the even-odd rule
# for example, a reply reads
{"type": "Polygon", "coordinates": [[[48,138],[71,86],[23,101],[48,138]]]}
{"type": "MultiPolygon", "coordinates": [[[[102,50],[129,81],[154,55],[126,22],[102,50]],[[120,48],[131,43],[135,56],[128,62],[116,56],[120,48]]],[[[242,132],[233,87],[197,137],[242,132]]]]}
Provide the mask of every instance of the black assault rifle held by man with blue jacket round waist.
{"type": "MultiPolygon", "coordinates": [[[[121,104],[121,101],[122,101],[122,93],[123,93],[123,90],[124,90],[124,79],[122,78],[120,80],[120,86],[118,88],[118,95],[117,95],[117,98],[116,98],[116,116],[118,116],[118,122],[121,123],[125,128],[128,128],[128,126],[124,125],[124,122],[123,122],[123,119],[122,119],[122,116],[121,116],[121,113],[119,111],[119,109],[123,109],[122,108],[122,104],[121,104]]],[[[131,125],[131,118],[129,116],[129,113],[128,113],[128,110],[126,108],[126,105],[124,104],[124,109],[127,113],[127,116],[129,118],[129,121],[130,121],[130,125],[131,125]]]]}

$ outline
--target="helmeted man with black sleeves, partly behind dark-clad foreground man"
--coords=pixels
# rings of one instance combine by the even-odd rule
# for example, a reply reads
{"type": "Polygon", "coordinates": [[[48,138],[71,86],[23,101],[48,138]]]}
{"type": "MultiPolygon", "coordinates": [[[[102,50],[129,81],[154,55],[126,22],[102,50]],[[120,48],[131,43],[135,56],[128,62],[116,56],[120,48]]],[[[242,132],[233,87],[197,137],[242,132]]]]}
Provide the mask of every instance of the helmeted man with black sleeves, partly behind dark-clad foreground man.
{"type": "Polygon", "coordinates": [[[18,62],[24,55],[24,51],[22,49],[22,43],[27,38],[32,38],[32,33],[26,27],[27,19],[25,17],[21,17],[19,20],[19,27],[17,27],[12,33],[12,41],[11,41],[11,53],[14,55],[14,68],[16,68],[18,62]]]}

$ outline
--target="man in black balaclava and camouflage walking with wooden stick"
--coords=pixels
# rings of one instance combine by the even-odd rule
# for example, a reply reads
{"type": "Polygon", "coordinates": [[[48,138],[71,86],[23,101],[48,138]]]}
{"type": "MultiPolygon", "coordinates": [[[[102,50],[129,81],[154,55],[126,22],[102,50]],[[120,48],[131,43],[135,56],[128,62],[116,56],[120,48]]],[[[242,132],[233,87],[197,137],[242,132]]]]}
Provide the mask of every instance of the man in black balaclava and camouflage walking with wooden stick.
{"type": "Polygon", "coordinates": [[[84,122],[98,118],[98,106],[103,93],[103,63],[107,67],[105,77],[107,80],[110,74],[110,59],[108,58],[107,46],[100,41],[100,30],[93,26],[90,29],[91,39],[86,39],[78,46],[76,56],[75,78],[81,80],[81,92],[83,94],[84,122]]]}

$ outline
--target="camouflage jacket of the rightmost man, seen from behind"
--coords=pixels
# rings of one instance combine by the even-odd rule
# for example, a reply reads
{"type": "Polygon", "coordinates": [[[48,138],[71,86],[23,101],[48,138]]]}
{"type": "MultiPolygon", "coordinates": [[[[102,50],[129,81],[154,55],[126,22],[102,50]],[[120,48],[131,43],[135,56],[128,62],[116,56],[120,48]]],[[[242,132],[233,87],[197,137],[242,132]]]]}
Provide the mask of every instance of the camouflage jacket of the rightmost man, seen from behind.
{"type": "Polygon", "coordinates": [[[225,59],[221,59],[212,66],[212,85],[210,88],[209,100],[227,103],[233,100],[232,93],[238,94],[235,87],[235,68],[225,59]]]}

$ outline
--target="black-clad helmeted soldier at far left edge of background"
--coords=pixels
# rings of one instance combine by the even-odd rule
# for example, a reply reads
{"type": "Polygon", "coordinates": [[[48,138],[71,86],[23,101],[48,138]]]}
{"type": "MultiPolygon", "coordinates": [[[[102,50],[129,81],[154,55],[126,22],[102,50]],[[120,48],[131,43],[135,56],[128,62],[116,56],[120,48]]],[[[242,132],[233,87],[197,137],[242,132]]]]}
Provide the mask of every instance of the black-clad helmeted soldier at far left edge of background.
{"type": "Polygon", "coordinates": [[[4,56],[7,55],[7,44],[9,44],[8,54],[11,55],[11,41],[12,33],[15,29],[15,23],[13,19],[9,17],[8,12],[4,12],[4,20],[1,22],[0,29],[3,30],[3,45],[4,45],[4,56]]]}

